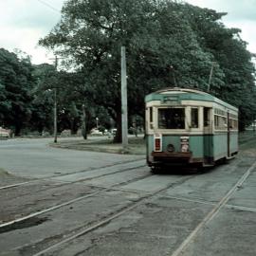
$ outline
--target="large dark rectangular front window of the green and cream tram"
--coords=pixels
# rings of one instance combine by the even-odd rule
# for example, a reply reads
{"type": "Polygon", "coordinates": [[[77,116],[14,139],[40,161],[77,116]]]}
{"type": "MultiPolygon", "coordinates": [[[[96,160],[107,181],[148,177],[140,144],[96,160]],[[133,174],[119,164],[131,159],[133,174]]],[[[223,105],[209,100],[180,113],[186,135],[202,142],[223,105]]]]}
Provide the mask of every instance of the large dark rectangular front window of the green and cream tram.
{"type": "Polygon", "coordinates": [[[184,108],[159,108],[158,109],[159,129],[185,129],[184,108]]]}

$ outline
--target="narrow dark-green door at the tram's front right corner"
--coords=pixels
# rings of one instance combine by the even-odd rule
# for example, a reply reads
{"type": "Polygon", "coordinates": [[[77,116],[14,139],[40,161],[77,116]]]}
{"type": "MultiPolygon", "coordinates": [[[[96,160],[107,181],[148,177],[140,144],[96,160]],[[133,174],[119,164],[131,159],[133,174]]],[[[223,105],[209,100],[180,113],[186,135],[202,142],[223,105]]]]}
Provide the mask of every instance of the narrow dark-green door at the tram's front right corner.
{"type": "Polygon", "coordinates": [[[203,125],[204,125],[204,160],[205,163],[211,163],[213,161],[213,136],[212,136],[212,120],[211,113],[212,108],[204,107],[203,113],[203,125]]]}

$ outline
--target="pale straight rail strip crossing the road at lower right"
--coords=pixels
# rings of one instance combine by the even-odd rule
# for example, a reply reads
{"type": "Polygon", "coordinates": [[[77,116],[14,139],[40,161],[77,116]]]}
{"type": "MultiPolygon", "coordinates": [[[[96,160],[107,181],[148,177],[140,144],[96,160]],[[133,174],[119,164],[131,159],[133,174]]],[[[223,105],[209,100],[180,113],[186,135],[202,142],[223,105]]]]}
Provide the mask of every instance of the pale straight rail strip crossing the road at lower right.
{"type": "Polygon", "coordinates": [[[229,190],[229,192],[219,201],[216,206],[210,210],[210,212],[206,215],[206,217],[203,219],[203,221],[195,228],[193,229],[192,233],[183,241],[183,243],[174,251],[172,256],[178,256],[184,250],[192,243],[194,238],[196,237],[197,233],[203,229],[206,224],[212,220],[216,214],[226,205],[226,203],[229,201],[230,197],[234,192],[236,192],[242,184],[246,181],[248,175],[251,173],[251,171],[256,167],[256,161],[252,164],[252,166],[247,170],[247,172],[237,181],[237,183],[229,190]]]}

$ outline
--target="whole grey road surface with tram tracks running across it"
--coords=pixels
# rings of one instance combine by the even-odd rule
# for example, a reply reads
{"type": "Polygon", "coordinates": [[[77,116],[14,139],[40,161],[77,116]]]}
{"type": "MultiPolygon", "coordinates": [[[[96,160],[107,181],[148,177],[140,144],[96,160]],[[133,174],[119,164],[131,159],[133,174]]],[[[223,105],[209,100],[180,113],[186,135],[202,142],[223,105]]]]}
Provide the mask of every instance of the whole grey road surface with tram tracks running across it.
{"type": "Polygon", "coordinates": [[[0,255],[256,255],[255,155],[155,175],[47,143],[0,141],[0,255]]]}

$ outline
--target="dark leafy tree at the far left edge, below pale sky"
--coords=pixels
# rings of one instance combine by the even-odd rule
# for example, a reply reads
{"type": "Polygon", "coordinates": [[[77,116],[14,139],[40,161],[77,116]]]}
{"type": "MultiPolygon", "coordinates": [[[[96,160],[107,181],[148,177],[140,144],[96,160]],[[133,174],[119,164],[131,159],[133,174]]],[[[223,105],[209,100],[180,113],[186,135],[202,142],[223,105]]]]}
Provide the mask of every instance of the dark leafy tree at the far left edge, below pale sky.
{"type": "Polygon", "coordinates": [[[0,65],[0,124],[13,129],[17,136],[31,118],[33,66],[29,58],[19,59],[4,48],[0,49],[0,65]]]}

